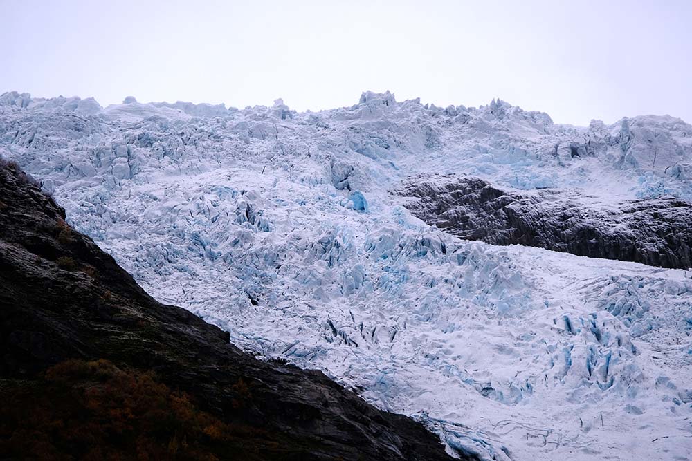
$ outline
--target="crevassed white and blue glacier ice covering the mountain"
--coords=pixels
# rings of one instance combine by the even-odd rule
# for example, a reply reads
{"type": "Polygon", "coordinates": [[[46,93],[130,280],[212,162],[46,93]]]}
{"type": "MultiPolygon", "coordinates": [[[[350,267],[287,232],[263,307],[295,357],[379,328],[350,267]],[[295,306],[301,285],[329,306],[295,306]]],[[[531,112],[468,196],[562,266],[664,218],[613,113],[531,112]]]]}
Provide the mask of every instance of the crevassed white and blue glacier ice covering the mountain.
{"type": "Polygon", "coordinates": [[[688,459],[692,272],[462,241],[417,173],[692,200],[692,126],[553,124],[390,93],[296,113],[0,96],[0,155],[160,301],[495,460],[688,459]]]}

